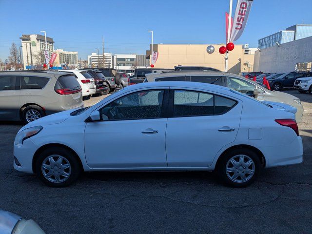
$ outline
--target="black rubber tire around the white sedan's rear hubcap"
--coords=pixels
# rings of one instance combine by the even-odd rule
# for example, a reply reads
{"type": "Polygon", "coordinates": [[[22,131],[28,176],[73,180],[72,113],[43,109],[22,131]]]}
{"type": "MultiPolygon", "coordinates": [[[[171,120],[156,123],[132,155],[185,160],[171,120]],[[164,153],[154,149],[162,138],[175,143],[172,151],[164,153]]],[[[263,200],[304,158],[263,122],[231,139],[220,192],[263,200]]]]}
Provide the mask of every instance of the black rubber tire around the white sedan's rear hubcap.
{"type": "MultiPolygon", "coordinates": [[[[245,159],[247,159],[247,157],[245,157],[245,159]]],[[[238,162],[239,163],[239,162],[238,162]]],[[[247,167],[248,169],[249,167],[247,167]]],[[[229,151],[228,153],[224,154],[223,156],[221,156],[221,158],[219,158],[217,165],[216,165],[216,173],[218,175],[218,177],[221,179],[221,181],[228,186],[231,187],[235,187],[235,188],[242,188],[242,187],[246,187],[250,184],[252,184],[254,182],[254,180],[257,178],[257,176],[259,176],[260,172],[262,169],[262,165],[259,159],[259,156],[252,150],[247,149],[247,148],[241,148],[241,149],[234,149],[232,151],[229,151]],[[244,155],[249,157],[250,159],[252,159],[253,163],[254,163],[254,173],[252,176],[250,176],[250,178],[248,178],[246,181],[233,181],[230,179],[229,176],[235,174],[235,176],[238,176],[236,178],[236,180],[242,180],[242,177],[240,177],[240,173],[244,172],[243,170],[246,170],[246,168],[244,169],[244,165],[240,166],[237,165],[237,167],[234,166],[233,164],[233,168],[235,170],[235,172],[233,174],[229,173],[229,176],[227,175],[227,164],[229,162],[229,160],[234,157],[234,156],[239,156],[239,155],[244,155]],[[237,174],[236,174],[236,170],[237,170],[237,174]]],[[[243,175],[243,174],[242,174],[243,175]]],[[[246,176],[246,174],[245,174],[246,176]]],[[[246,176],[247,178],[248,176],[246,176]]]]}

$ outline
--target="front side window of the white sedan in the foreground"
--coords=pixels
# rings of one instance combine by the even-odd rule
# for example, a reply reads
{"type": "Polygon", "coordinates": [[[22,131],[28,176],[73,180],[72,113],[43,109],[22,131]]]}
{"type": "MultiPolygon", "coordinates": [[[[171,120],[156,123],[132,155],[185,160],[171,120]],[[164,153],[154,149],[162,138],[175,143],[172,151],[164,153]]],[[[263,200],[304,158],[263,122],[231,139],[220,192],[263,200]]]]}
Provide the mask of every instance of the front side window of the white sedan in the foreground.
{"type": "Polygon", "coordinates": [[[161,117],[164,90],[140,91],[118,98],[100,110],[103,120],[161,117]]]}

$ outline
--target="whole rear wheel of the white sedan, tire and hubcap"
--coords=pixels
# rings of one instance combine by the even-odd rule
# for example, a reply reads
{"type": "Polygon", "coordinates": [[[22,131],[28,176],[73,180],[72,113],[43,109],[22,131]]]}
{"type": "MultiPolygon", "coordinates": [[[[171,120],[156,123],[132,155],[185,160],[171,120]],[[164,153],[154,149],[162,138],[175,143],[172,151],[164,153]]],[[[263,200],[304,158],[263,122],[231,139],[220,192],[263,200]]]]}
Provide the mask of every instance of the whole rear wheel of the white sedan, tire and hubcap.
{"type": "Polygon", "coordinates": [[[250,149],[234,149],[220,158],[216,170],[226,185],[246,187],[260,174],[261,162],[250,149]]]}

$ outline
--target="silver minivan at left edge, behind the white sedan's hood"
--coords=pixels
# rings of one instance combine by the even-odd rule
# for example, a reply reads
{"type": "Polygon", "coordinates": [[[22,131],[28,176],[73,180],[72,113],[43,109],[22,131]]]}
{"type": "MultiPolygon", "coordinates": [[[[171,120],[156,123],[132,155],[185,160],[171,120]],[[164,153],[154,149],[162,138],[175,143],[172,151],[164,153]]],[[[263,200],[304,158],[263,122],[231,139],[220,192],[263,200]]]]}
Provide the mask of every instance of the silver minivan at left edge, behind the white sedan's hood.
{"type": "Polygon", "coordinates": [[[72,74],[55,71],[0,72],[0,120],[25,123],[81,108],[81,87],[72,74]]]}

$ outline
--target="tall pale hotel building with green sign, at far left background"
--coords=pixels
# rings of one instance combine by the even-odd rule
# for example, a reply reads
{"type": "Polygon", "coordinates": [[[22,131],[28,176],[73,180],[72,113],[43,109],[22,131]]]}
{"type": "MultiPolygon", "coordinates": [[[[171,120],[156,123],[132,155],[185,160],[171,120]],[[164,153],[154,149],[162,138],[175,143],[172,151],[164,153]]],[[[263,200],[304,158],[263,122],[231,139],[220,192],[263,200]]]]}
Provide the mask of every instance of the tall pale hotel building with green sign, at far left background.
{"type": "MultiPolygon", "coordinates": [[[[26,69],[26,66],[41,64],[42,61],[39,57],[42,57],[43,51],[45,50],[44,36],[39,34],[23,34],[20,39],[24,69],[26,69]]],[[[54,50],[54,41],[52,38],[47,37],[47,46],[51,55],[54,50]]]]}

